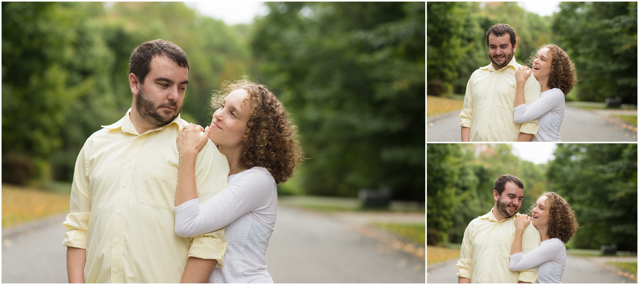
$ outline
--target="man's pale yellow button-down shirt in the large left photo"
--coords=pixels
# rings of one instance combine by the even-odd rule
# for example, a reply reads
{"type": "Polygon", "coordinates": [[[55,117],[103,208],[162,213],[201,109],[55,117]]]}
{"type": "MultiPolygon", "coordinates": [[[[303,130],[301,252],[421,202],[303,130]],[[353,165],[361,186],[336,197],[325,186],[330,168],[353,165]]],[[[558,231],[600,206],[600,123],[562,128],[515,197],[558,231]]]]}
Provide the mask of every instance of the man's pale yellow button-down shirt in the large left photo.
{"type": "MultiPolygon", "coordinates": [[[[225,228],[175,234],[178,116],[139,135],[127,114],[91,135],[77,158],[63,245],[86,249],[86,282],[179,283],[190,256],[223,265],[225,228]]],[[[212,142],[199,152],[200,201],[226,187],[229,166],[212,142]]]]}

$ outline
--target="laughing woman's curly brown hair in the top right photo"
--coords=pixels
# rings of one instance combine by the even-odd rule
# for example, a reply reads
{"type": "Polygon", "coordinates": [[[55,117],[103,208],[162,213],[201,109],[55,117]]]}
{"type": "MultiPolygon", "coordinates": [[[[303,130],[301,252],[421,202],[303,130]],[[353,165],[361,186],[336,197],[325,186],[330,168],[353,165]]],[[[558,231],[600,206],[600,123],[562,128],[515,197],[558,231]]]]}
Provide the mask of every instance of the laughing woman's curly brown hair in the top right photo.
{"type": "Polygon", "coordinates": [[[577,73],[574,68],[573,62],[566,52],[557,45],[542,45],[537,51],[530,55],[530,58],[526,61],[526,64],[532,68],[532,61],[537,58],[539,50],[542,48],[548,48],[550,54],[553,55],[553,60],[550,64],[550,78],[548,78],[548,87],[551,89],[558,88],[564,92],[566,96],[575,84],[577,84],[577,73]]]}

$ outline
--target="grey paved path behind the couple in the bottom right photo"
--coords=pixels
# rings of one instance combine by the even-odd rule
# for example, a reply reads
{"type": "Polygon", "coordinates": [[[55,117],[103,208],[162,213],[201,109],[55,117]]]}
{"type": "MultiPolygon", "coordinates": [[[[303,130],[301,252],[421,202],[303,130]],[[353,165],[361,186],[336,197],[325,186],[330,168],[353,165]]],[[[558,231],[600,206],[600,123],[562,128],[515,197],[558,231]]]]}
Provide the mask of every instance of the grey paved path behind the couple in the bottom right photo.
{"type": "MultiPolygon", "coordinates": [[[[631,258],[636,262],[636,257],[631,258]]],[[[444,261],[427,268],[428,283],[457,283],[456,264],[458,259],[444,261]]],[[[633,279],[619,274],[605,259],[583,258],[568,254],[562,283],[636,283],[633,279]]]]}

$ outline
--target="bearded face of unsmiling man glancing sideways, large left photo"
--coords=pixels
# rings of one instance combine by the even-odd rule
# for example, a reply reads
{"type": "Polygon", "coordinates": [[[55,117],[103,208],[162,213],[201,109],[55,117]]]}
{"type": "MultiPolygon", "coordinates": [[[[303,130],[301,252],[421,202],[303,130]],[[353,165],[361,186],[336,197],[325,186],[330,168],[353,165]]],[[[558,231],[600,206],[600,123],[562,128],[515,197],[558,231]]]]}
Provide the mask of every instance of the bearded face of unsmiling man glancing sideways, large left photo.
{"type": "Polygon", "coordinates": [[[189,70],[163,55],[153,57],[150,67],[135,95],[135,108],[151,126],[164,126],[180,115],[189,70]]]}

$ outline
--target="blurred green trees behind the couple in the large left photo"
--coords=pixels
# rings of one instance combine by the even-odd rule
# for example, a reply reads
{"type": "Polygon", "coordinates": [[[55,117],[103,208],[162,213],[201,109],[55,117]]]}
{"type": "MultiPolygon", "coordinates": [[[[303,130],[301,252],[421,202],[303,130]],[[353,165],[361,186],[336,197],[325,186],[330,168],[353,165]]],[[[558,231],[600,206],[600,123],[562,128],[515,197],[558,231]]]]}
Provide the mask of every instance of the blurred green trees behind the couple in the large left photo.
{"type": "Polygon", "coordinates": [[[130,53],[162,38],[189,56],[183,119],[210,122],[211,91],[243,74],[281,98],[311,157],[282,193],[424,201],[426,4],[267,5],[229,27],[178,2],[2,3],[3,181],[71,180],[131,106],[130,53]]]}

